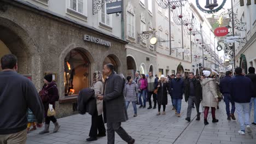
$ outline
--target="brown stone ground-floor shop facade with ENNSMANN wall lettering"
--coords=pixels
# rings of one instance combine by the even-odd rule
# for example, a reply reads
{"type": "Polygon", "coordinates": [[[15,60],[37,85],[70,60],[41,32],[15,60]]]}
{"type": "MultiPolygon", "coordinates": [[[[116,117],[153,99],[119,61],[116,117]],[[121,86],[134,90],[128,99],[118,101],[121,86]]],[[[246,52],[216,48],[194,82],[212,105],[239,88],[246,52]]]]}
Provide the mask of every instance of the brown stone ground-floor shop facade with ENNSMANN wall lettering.
{"type": "Polygon", "coordinates": [[[0,57],[16,55],[18,73],[31,75],[38,91],[44,75],[53,74],[60,95],[57,117],[77,111],[79,90],[90,87],[103,64],[126,73],[127,43],[119,37],[24,1],[1,1],[0,6],[0,57]],[[111,45],[84,40],[85,34],[111,45]]]}

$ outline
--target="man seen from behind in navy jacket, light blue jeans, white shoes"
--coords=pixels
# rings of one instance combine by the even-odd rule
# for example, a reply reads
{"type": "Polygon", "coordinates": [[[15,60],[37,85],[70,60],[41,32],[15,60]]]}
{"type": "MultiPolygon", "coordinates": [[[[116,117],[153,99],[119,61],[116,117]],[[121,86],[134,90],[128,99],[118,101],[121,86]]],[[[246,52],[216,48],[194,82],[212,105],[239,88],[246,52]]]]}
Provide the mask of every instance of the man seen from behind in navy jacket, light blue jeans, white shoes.
{"type": "Polygon", "coordinates": [[[241,68],[236,68],[235,72],[236,76],[230,80],[229,84],[230,95],[232,100],[235,101],[238,122],[241,127],[241,130],[239,130],[238,133],[245,135],[245,128],[248,133],[252,133],[252,129],[249,125],[249,104],[253,95],[253,83],[251,79],[242,75],[241,68]],[[245,115],[245,119],[243,119],[243,115],[245,115]]]}

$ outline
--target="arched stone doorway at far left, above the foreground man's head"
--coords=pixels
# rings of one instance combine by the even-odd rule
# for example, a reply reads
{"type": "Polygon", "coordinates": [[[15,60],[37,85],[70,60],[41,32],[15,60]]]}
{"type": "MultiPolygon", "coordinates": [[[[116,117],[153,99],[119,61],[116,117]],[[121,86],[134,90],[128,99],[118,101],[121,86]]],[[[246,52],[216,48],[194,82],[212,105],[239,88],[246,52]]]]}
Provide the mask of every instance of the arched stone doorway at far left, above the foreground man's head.
{"type": "Polygon", "coordinates": [[[24,41],[11,29],[0,26],[0,58],[9,53],[18,58],[18,73],[31,74],[30,52],[27,51],[24,41]]]}

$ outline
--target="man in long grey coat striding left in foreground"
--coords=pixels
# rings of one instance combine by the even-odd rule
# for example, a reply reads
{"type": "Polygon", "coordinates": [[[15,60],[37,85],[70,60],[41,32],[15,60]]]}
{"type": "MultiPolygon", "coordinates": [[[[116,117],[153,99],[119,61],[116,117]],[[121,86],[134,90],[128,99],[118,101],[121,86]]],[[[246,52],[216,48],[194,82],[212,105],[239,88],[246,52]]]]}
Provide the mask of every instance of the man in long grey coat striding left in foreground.
{"type": "Polygon", "coordinates": [[[129,144],[135,143],[130,135],[121,127],[121,122],[128,119],[123,95],[123,79],[114,72],[113,64],[103,66],[103,74],[107,76],[104,95],[97,98],[104,100],[104,122],[107,122],[108,144],[115,143],[115,132],[129,144]]]}

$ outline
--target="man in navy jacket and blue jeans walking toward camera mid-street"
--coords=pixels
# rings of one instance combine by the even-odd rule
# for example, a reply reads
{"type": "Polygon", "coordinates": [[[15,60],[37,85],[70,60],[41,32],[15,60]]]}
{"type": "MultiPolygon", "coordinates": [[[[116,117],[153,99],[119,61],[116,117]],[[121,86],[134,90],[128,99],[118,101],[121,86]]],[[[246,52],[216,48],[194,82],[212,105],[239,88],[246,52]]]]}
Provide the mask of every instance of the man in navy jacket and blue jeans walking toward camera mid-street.
{"type": "Polygon", "coordinates": [[[181,103],[184,93],[184,80],[181,79],[181,73],[176,73],[176,78],[172,79],[170,87],[172,101],[176,108],[176,116],[181,117],[181,103]]]}

